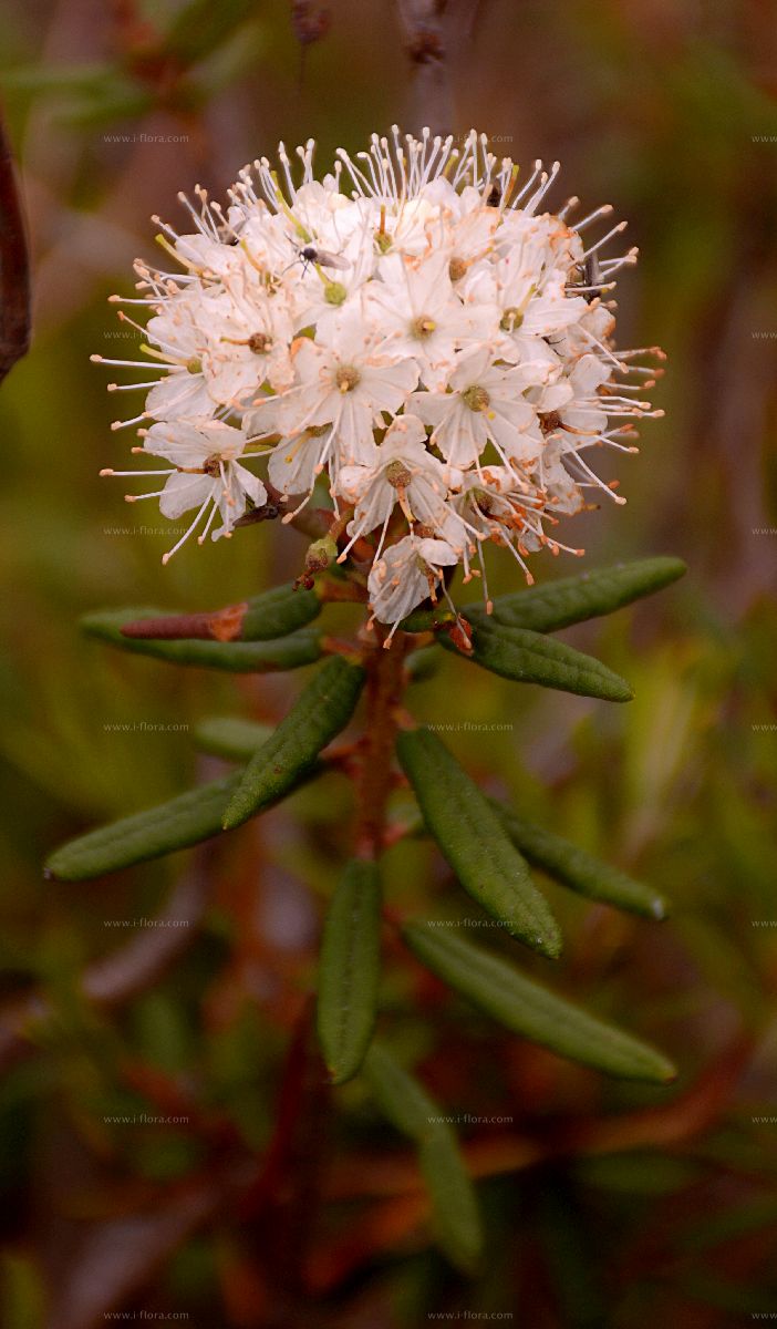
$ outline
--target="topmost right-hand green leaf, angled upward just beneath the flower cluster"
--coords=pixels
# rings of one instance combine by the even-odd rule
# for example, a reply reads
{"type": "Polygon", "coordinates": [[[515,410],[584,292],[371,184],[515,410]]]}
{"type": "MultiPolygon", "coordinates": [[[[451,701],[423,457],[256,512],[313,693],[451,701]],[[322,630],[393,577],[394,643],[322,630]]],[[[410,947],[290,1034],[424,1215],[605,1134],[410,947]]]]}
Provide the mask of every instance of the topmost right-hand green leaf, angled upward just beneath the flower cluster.
{"type": "MultiPolygon", "coordinates": [[[[490,615],[506,627],[529,627],[535,633],[555,633],[586,618],[612,614],[643,595],[652,595],[687,571],[680,558],[640,558],[564,577],[562,581],[531,586],[499,595],[490,615]]],[[[489,615],[482,605],[464,605],[462,614],[481,625],[489,615]]]]}

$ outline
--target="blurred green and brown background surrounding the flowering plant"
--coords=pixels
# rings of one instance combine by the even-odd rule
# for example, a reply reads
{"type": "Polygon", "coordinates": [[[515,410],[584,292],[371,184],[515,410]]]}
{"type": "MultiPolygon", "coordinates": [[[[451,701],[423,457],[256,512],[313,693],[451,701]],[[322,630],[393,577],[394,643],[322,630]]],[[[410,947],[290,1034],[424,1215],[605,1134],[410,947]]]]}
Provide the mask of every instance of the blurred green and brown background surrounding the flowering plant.
{"type": "MultiPolygon", "coordinates": [[[[272,720],[299,687],[78,634],[92,609],[242,599],[295,575],[304,548],[259,525],[162,570],[169,524],[97,477],[124,468],[133,440],[109,428],[121,371],[89,355],[133,359],[139,343],[106,298],[130,294],[133,258],[153,259],[150,214],[182,223],[178,190],[223,197],[279,138],[315,136],[324,165],[394,120],[418,128],[425,48],[408,52],[379,0],[3,0],[0,98],[36,283],[35,344],[0,393],[11,1329],[112,1316],[394,1329],[442,1313],[712,1329],[777,1314],[774,11],[485,0],[470,20],[452,23],[445,62],[453,129],[474,124],[525,165],[559,158],[557,206],[566,190],[628,218],[642,253],[619,284],[619,342],[668,352],[653,393],[665,419],[618,468],[628,506],[566,534],[591,566],[669,553],[689,573],[566,634],[634,683],[627,707],[465,679],[449,657],[410,704],[460,726],[446,740],[493,792],[669,896],[672,918],[653,925],[549,886],[568,938],[557,986],[661,1046],[680,1079],[643,1090],[563,1063],[389,954],[387,1027],[441,1102],[482,1118],[461,1134],[475,1172],[491,1160],[478,1174],[489,1256],[465,1280],[418,1221],[412,1155],[359,1086],[305,1094],[343,781],[224,847],[82,886],[43,880],[60,840],[218,769],[197,756],[201,719],[272,720]],[[165,909],[179,925],[147,926],[165,909]]],[[[453,889],[428,845],[392,851],[398,908],[453,889]]]]}

